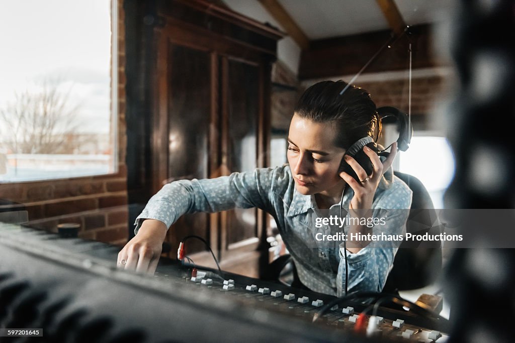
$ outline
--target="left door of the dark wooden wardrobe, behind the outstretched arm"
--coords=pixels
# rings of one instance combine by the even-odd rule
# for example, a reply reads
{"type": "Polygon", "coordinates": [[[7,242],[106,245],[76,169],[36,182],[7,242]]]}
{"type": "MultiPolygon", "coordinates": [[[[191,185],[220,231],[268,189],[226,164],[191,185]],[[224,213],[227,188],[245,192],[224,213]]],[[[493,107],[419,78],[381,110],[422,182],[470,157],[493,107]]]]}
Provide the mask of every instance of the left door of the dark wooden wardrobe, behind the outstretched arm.
{"type": "MultiPolygon", "coordinates": [[[[212,125],[211,53],[169,41],[159,50],[155,191],[175,180],[209,177],[212,125]]],[[[168,231],[170,255],[175,255],[178,242],[188,234],[210,241],[209,223],[206,213],[183,215],[168,231]]],[[[204,250],[200,241],[188,241],[188,253],[204,250]]]]}

